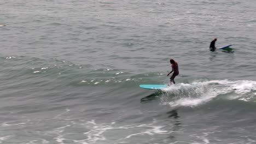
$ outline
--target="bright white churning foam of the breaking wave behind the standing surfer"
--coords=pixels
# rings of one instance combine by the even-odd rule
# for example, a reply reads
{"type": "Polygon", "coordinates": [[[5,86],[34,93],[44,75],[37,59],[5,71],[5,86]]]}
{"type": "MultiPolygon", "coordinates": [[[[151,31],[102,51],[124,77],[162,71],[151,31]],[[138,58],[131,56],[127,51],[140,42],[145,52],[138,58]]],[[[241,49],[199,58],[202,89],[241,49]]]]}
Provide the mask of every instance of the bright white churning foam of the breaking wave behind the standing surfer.
{"type": "MultiPolygon", "coordinates": [[[[162,97],[162,104],[170,106],[197,106],[205,104],[218,95],[235,92],[236,95],[229,95],[229,99],[239,99],[251,101],[253,97],[247,98],[248,92],[255,91],[256,81],[229,81],[229,80],[212,80],[212,81],[194,81],[191,83],[178,83],[162,89],[167,93],[162,97]],[[174,94],[172,100],[168,100],[168,94],[174,94]],[[167,99],[167,100],[166,100],[167,99]]],[[[170,98],[169,98],[170,99],[170,98]]]]}

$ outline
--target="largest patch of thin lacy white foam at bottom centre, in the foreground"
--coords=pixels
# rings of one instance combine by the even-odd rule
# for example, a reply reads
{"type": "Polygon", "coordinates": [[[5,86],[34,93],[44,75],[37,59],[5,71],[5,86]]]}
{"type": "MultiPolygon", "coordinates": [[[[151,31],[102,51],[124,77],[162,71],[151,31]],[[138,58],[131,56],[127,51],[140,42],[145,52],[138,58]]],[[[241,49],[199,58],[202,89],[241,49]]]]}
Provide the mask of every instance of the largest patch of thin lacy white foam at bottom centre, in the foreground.
{"type": "Polygon", "coordinates": [[[82,124],[83,127],[85,126],[86,129],[89,129],[89,131],[86,131],[82,133],[85,135],[85,139],[83,140],[71,140],[66,139],[65,137],[65,129],[69,129],[70,125],[66,125],[64,127],[56,128],[54,131],[51,131],[51,133],[57,134],[54,139],[59,143],[64,143],[65,140],[73,141],[75,143],[106,143],[108,140],[111,140],[112,137],[109,137],[106,135],[106,133],[113,133],[117,134],[116,139],[120,143],[126,143],[126,141],[130,141],[127,139],[133,139],[133,136],[142,136],[146,135],[148,137],[152,135],[157,134],[170,134],[173,133],[173,131],[165,130],[166,126],[159,125],[155,122],[155,120],[152,123],[148,124],[130,124],[130,125],[117,125],[116,122],[111,123],[96,123],[94,120],[91,121],[84,121],[82,124]],[[118,131],[122,131],[122,133],[118,133],[118,131]]]}

